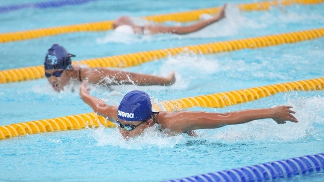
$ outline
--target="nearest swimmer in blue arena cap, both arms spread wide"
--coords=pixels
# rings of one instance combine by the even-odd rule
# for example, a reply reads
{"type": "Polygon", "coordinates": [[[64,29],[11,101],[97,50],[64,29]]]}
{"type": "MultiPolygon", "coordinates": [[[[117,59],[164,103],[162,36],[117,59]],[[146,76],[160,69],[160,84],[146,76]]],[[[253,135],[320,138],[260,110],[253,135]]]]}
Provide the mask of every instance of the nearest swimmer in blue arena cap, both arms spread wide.
{"type": "Polygon", "coordinates": [[[168,134],[188,133],[191,136],[196,136],[193,131],[196,129],[213,129],[267,118],[278,124],[286,123],[286,121],[298,122],[292,115],[295,114],[295,111],[291,110],[291,106],[242,110],[224,114],[203,111],[161,111],[156,113],[152,112],[151,99],[146,92],[130,91],[124,96],[119,106],[112,106],[90,95],[86,88],[86,82],[81,85],[80,96],[94,112],[115,122],[125,139],[140,135],[146,128],[156,123],[160,124],[162,130],[168,134]]]}

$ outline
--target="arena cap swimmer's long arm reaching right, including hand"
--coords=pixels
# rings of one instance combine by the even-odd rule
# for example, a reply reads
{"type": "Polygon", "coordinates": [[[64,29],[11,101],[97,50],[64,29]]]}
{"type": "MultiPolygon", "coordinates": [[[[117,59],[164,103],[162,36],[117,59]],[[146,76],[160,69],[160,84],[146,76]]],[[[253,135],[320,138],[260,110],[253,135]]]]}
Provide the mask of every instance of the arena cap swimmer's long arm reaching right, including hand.
{"type": "Polygon", "coordinates": [[[208,113],[180,111],[166,114],[166,123],[171,130],[184,132],[194,129],[219,128],[229,124],[242,124],[249,121],[261,119],[273,119],[278,124],[286,121],[298,122],[292,115],[295,111],[290,110],[291,106],[277,106],[268,109],[251,109],[230,113],[208,113]]]}

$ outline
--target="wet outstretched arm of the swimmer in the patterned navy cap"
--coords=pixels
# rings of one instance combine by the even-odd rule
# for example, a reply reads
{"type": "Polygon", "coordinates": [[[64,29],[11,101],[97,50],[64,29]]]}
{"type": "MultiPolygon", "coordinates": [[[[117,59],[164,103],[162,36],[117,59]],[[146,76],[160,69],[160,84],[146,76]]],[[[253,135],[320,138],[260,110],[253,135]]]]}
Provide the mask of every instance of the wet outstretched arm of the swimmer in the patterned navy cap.
{"type": "MultiPolygon", "coordinates": [[[[83,70],[82,70],[83,71],[83,70]]],[[[133,73],[107,68],[87,68],[85,71],[86,80],[93,84],[122,85],[135,84],[139,86],[148,85],[172,85],[175,82],[175,74],[168,77],[160,77],[148,74],[133,73]]]]}

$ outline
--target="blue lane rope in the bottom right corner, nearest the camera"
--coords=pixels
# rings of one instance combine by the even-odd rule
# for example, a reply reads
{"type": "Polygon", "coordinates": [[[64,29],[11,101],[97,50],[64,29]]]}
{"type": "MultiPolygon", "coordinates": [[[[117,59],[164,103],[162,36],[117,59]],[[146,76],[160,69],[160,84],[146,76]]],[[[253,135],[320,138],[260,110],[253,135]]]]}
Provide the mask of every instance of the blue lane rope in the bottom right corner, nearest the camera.
{"type": "Polygon", "coordinates": [[[167,182],[263,182],[319,172],[323,169],[324,153],[319,153],[167,182]]]}

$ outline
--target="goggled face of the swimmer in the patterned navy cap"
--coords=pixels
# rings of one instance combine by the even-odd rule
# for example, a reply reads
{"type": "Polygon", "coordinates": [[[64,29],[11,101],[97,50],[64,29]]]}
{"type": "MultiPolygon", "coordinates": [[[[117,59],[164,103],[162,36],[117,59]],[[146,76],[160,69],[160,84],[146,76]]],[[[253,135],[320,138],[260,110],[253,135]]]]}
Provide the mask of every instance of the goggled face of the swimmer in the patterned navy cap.
{"type": "Polygon", "coordinates": [[[47,80],[55,91],[62,91],[64,86],[66,86],[70,80],[67,71],[63,69],[47,69],[45,70],[45,74],[47,75],[47,80]]]}

